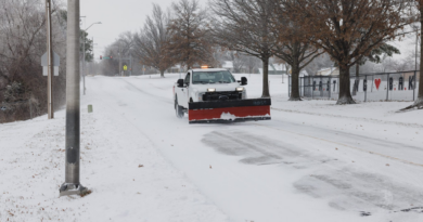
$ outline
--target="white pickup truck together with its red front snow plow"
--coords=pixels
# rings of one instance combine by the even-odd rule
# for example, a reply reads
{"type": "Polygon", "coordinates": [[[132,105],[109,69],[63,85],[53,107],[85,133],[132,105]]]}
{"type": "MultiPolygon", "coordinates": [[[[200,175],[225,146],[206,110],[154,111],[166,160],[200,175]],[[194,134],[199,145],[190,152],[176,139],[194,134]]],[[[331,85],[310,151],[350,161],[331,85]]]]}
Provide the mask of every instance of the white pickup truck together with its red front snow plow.
{"type": "Polygon", "coordinates": [[[247,79],[236,81],[221,68],[191,69],[174,86],[178,118],[188,113],[190,123],[227,123],[269,120],[270,99],[247,99],[247,79]]]}

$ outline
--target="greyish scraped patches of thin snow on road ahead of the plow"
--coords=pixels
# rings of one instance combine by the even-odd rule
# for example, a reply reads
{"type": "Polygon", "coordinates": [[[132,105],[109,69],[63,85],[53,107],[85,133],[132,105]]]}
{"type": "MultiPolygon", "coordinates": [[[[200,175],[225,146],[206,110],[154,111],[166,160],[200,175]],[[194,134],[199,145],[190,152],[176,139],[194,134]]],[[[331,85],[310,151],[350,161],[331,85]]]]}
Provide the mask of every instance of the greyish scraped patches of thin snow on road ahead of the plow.
{"type": "Polygon", "coordinates": [[[293,186],[315,198],[328,199],[328,204],[338,210],[369,212],[375,207],[396,210],[423,205],[423,194],[415,185],[355,169],[345,161],[272,138],[239,130],[213,131],[205,134],[202,142],[219,153],[242,157],[240,162],[243,164],[278,164],[295,170],[311,170],[312,174],[300,178],[293,186]]]}

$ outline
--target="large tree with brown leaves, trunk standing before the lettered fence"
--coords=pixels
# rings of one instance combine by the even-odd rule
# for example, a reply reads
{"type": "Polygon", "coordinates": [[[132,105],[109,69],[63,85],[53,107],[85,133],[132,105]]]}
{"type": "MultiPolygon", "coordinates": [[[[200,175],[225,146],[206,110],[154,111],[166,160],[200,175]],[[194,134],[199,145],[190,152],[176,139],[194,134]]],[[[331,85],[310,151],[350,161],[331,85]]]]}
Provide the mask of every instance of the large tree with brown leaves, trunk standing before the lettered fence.
{"type": "Polygon", "coordinates": [[[339,66],[337,104],[355,104],[350,93],[349,68],[383,42],[397,38],[410,24],[405,14],[408,0],[281,0],[306,32],[339,66]]]}

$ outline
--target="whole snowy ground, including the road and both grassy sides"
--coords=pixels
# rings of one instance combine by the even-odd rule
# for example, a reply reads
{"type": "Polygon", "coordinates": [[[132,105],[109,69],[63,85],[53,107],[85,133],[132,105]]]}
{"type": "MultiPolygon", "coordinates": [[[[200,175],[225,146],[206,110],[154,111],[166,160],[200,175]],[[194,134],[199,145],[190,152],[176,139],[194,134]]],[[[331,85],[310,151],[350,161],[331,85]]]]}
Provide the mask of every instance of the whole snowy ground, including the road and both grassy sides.
{"type": "Polygon", "coordinates": [[[287,102],[271,76],[272,120],[190,126],[178,76],[87,78],[86,197],[59,198],[64,112],[0,125],[0,221],[423,221],[423,110],[287,102]]]}

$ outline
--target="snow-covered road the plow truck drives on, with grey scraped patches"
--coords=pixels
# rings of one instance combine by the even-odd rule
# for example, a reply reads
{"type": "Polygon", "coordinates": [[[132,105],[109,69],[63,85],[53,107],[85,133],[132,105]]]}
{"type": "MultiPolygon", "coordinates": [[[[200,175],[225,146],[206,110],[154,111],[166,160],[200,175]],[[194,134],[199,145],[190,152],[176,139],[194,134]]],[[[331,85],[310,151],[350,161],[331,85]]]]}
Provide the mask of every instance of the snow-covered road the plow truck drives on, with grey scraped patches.
{"type": "MultiPolygon", "coordinates": [[[[175,77],[93,78],[89,94],[151,139],[233,220],[357,221],[361,211],[370,221],[422,217],[393,212],[423,206],[419,126],[290,114],[278,102],[271,121],[190,126],[174,114],[175,77]]],[[[273,81],[272,94],[283,100],[284,87],[273,89],[273,81]]],[[[255,87],[252,96],[259,95],[255,87]]]]}

